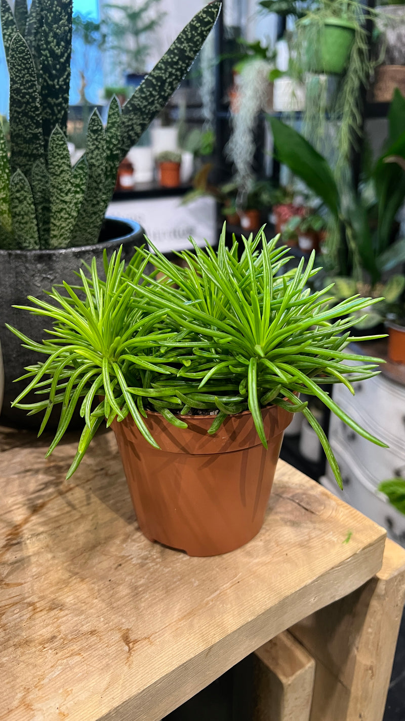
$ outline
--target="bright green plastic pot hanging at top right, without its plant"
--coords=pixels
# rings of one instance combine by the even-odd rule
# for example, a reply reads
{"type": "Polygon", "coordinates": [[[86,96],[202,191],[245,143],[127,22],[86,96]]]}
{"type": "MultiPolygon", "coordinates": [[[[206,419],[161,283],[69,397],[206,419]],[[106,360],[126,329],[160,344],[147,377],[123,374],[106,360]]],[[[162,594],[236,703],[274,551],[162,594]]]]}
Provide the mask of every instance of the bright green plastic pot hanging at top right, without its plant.
{"type": "Polygon", "coordinates": [[[306,43],[306,70],[312,73],[342,75],[350,60],[355,42],[355,24],[340,17],[330,17],[314,33],[313,22],[308,22],[306,43]],[[314,36],[317,42],[314,42],[314,36]]]}

